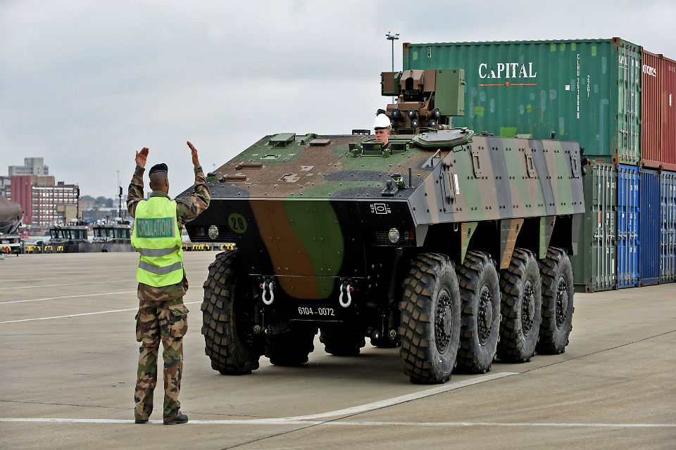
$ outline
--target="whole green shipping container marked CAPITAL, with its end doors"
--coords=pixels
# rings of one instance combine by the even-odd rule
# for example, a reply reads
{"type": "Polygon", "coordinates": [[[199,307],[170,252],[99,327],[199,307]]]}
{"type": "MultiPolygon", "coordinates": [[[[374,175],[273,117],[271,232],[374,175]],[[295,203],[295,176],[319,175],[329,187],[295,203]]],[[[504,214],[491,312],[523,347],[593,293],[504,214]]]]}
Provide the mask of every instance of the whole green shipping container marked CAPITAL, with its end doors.
{"type": "Polygon", "coordinates": [[[614,39],[403,44],[403,68],[465,70],[453,126],[578,141],[587,155],[637,165],[641,47],[614,39]]]}

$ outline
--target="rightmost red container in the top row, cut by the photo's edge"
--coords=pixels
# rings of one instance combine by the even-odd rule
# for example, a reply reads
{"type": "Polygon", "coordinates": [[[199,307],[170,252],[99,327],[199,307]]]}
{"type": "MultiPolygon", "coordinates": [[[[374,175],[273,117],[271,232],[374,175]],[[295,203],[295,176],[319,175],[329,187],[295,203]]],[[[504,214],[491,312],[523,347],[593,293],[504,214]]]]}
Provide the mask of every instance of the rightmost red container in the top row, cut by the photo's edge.
{"type": "Polygon", "coordinates": [[[676,61],[662,59],[662,168],[676,170],[676,61]]]}

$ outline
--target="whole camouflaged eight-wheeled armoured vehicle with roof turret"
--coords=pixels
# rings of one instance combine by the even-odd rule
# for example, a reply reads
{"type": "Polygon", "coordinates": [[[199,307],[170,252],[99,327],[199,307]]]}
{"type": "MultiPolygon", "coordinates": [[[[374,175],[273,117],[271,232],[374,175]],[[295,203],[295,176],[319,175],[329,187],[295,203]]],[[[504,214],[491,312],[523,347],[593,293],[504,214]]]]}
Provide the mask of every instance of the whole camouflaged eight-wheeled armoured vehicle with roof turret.
{"type": "Polygon", "coordinates": [[[237,245],[204,283],[215,370],[250,373],[263,354],[303,364],[318,332],[334,355],[365,338],[400,346],[415,383],[564,351],[584,155],[453,129],[463,79],[383,73],[382,95],[397,97],[379,110],[387,145],[368,130],[275,134],[208,174],[211,206],[187,231],[237,245]]]}

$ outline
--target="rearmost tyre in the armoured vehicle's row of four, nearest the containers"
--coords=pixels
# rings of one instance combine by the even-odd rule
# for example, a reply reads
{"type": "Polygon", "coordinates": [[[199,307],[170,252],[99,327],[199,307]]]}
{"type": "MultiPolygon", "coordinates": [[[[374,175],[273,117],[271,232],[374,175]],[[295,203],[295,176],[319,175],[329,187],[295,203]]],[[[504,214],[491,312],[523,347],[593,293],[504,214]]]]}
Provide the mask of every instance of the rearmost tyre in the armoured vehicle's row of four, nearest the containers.
{"type": "Polygon", "coordinates": [[[572,330],[572,266],[565,250],[550,247],[540,261],[542,323],[536,350],[542,354],[565,352],[572,330]]]}

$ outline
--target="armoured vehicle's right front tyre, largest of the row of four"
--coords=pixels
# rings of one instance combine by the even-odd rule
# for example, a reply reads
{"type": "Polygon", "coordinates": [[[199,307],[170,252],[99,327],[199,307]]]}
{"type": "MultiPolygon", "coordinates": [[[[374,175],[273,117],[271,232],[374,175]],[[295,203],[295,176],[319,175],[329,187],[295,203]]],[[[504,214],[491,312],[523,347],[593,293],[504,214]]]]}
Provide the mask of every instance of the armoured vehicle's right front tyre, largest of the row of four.
{"type": "Polygon", "coordinates": [[[412,383],[449,380],[461,328],[460,288],[449,257],[423,253],[413,259],[399,309],[403,373],[412,383]]]}

